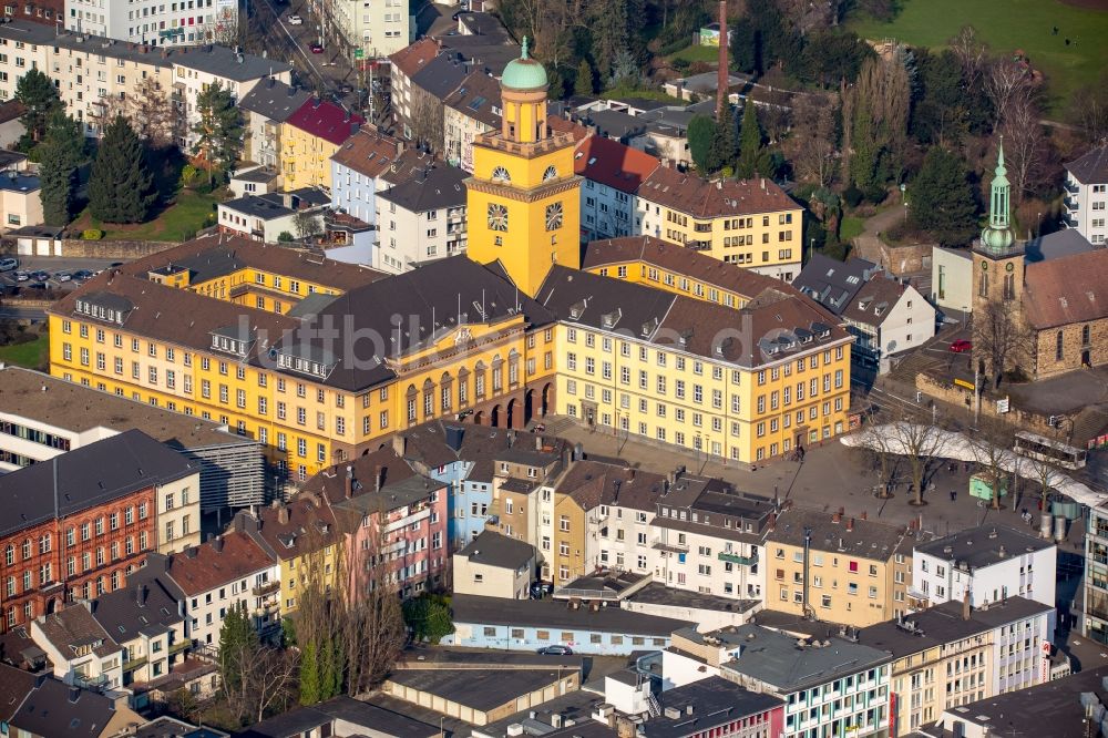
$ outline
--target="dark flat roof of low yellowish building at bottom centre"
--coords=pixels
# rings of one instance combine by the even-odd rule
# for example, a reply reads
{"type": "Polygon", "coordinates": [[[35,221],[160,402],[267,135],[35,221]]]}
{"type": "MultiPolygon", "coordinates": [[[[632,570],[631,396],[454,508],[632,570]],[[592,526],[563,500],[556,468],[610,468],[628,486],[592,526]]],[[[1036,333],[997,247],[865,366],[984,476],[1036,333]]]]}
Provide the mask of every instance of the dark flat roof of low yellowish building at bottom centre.
{"type": "Polygon", "coordinates": [[[560,668],[543,669],[398,669],[389,681],[435,697],[488,711],[517,697],[554,685],[568,676],[560,668]]]}

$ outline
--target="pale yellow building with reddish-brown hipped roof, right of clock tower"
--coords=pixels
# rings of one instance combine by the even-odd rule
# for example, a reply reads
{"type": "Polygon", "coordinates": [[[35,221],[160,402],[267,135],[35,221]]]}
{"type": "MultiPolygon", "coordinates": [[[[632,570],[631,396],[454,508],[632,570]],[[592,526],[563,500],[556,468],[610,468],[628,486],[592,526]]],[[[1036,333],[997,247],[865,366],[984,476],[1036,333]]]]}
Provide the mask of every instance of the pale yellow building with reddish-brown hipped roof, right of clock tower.
{"type": "Polygon", "coordinates": [[[638,188],[636,234],[784,281],[800,274],[803,209],[774,182],[708,182],[659,166],[638,188]]]}

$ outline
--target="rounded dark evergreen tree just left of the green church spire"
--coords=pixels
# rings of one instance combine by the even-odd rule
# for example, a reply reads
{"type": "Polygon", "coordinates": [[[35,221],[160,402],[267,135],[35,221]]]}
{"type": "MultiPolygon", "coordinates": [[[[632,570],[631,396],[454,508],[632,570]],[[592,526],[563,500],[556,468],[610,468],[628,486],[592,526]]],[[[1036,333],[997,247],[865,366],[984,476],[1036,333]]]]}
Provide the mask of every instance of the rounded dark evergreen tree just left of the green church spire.
{"type": "Polygon", "coordinates": [[[977,226],[970,174],[961,156],[933,146],[907,192],[909,223],[926,230],[943,246],[961,246],[977,226]]]}

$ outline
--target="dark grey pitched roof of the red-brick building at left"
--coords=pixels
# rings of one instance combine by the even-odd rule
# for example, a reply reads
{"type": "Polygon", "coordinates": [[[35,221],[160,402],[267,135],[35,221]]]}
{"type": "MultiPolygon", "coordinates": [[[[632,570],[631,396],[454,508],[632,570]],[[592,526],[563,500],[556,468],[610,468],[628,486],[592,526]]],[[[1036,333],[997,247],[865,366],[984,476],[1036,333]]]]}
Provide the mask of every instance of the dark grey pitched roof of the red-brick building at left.
{"type": "Polygon", "coordinates": [[[129,430],[0,476],[0,534],[195,473],[199,465],[142,431],[129,430]]]}

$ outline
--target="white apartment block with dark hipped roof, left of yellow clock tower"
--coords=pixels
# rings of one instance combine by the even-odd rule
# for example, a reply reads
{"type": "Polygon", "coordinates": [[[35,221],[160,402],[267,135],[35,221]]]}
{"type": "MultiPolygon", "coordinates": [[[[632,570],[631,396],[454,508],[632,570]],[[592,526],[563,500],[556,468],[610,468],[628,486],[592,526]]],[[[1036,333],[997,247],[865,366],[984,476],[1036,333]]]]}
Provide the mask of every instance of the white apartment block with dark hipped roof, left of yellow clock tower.
{"type": "Polygon", "coordinates": [[[466,174],[432,163],[411,180],[377,193],[381,252],[408,270],[465,252],[466,174]]]}

